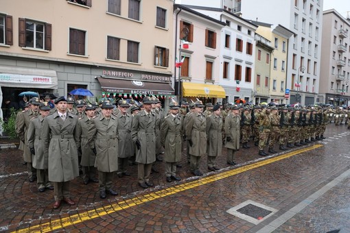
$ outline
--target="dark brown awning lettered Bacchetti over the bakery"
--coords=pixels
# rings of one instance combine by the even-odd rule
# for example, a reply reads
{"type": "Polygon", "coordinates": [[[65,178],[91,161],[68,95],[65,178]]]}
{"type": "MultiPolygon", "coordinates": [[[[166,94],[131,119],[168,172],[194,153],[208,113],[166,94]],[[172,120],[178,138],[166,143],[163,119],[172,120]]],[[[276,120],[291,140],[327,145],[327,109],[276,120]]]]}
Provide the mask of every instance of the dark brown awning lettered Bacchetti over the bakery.
{"type": "Polygon", "coordinates": [[[135,79],[97,77],[106,93],[133,95],[174,95],[174,89],[165,82],[146,82],[135,79]]]}

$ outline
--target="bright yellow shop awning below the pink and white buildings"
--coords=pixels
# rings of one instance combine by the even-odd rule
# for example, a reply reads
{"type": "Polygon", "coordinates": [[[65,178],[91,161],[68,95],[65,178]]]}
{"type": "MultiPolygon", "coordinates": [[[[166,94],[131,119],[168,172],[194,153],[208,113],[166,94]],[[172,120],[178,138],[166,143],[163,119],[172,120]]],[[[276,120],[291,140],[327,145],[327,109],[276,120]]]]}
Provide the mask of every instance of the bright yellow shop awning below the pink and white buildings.
{"type": "Polygon", "coordinates": [[[183,82],[183,96],[226,98],[226,93],[224,88],[219,85],[183,82]]]}

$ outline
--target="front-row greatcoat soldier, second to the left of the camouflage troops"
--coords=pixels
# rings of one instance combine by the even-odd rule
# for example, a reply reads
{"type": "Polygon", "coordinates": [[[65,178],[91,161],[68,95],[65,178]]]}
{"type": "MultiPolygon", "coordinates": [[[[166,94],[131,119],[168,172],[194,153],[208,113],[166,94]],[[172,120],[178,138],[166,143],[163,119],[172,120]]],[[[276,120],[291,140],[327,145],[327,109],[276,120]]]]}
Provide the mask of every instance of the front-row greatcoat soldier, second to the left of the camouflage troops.
{"type": "Polygon", "coordinates": [[[207,117],[207,164],[210,171],[219,170],[216,158],[222,153],[222,116],[221,108],[218,105],[213,107],[213,114],[207,117]]]}

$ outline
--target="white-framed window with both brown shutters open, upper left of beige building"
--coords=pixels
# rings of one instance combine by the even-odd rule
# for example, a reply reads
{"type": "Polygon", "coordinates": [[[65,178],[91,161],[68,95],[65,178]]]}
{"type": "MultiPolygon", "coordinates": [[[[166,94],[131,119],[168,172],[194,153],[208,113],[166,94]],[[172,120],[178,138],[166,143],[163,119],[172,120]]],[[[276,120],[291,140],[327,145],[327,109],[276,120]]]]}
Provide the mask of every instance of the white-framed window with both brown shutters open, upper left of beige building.
{"type": "Polygon", "coordinates": [[[19,46],[51,50],[51,24],[20,18],[19,46]]]}

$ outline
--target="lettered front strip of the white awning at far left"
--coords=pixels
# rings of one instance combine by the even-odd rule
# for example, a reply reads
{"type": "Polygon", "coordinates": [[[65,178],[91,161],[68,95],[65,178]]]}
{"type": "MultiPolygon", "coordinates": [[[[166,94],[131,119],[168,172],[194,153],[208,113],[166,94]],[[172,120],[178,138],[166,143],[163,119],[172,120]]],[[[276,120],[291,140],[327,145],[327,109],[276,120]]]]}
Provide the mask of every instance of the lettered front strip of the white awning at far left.
{"type": "Polygon", "coordinates": [[[19,84],[52,84],[52,78],[38,75],[19,75],[14,73],[0,73],[0,82],[19,84]]]}

